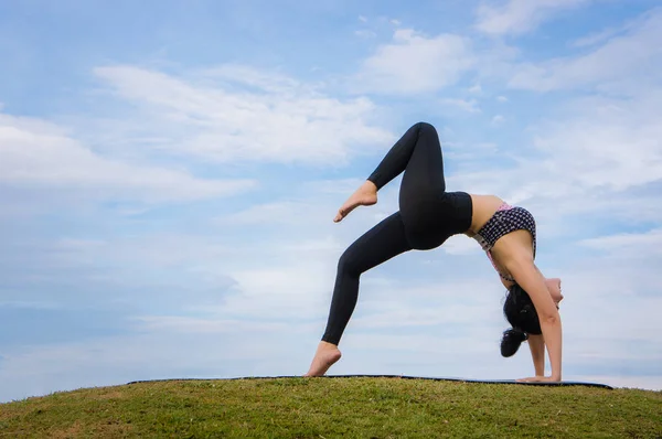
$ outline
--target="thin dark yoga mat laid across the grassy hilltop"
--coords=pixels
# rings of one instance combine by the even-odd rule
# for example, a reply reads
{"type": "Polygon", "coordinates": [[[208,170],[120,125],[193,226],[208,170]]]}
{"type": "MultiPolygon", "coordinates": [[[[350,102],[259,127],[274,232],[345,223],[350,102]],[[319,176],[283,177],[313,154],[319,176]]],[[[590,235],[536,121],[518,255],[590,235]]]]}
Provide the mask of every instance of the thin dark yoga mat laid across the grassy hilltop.
{"type": "MultiPolygon", "coordinates": [[[[128,384],[153,383],[164,381],[237,381],[237,379],[278,379],[278,378],[302,378],[301,376],[245,376],[236,378],[173,378],[173,379],[145,379],[135,381],[128,384]]],[[[466,379],[466,378],[449,378],[449,377],[430,377],[430,376],[407,376],[407,375],[324,375],[320,378],[398,378],[398,379],[429,379],[429,381],[450,381],[460,383],[481,383],[481,384],[517,384],[522,386],[586,386],[613,389],[613,387],[599,383],[586,383],[575,381],[564,381],[560,383],[517,383],[514,379],[466,379]]],[[[302,378],[302,379],[319,379],[319,378],[302,378]]]]}

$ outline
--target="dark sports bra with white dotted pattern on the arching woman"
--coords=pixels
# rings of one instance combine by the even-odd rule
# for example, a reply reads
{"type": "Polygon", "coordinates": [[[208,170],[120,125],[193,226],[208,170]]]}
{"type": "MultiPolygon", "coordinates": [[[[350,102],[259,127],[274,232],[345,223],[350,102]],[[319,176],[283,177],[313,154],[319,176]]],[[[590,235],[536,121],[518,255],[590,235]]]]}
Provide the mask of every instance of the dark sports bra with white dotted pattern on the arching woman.
{"type": "Polygon", "coordinates": [[[499,276],[511,282],[514,282],[515,279],[499,271],[496,264],[494,264],[494,260],[492,259],[491,249],[494,246],[494,243],[502,236],[522,229],[528,231],[533,236],[533,257],[535,259],[535,220],[531,212],[524,207],[511,206],[508,203],[503,203],[485,225],[473,236],[482,249],[488,254],[488,257],[496,272],[499,272],[499,276]]]}

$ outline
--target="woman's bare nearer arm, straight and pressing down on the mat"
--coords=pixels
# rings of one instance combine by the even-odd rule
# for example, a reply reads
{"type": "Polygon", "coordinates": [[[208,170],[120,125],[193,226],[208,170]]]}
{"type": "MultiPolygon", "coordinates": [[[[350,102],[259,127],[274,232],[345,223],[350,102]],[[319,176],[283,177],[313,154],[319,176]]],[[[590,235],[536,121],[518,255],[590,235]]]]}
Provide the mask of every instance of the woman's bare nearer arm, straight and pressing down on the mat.
{"type": "MultiPolygon", "coordinates": [[[[563,342],[563,333],[560,325],[560,315],[558,314],[558,310],[556,309],[556,304],[552,297],[549,296],[549,291],[547,290],[547,286],[545,285],[545,278],[541,272],[536,269],[533,260],[527,257],[517,257],[509,260],[506,263],[506,268],[515,279],[515,281],[528,293],[531,300],[533,301],[533,306],[538,314],[538,320],[541,322],[541,329],[543,330],[543,346],[547,346],[547,353],[549,354],[549,362],[552,363],[552,376],[548,378],[542,378],[545,381],[560,381],[562,379],[562,342],[563,342]]],[[[534,343],[536,343],[534,341],[534,343]]],[[[534,356],[535,364],[535,354],[536,347],[531,345],[532,355],[534,356]]],[[[543,366],[544,366],[544,349],[543,351],[543,366]]],[[[544,370],[543,370],[544,373],[544,370]]],[[[536,365],[536,375],[537,375],[537,365],[536,365]]],[[[535,378],[533,378],[535,379],[535,378]]]]}

